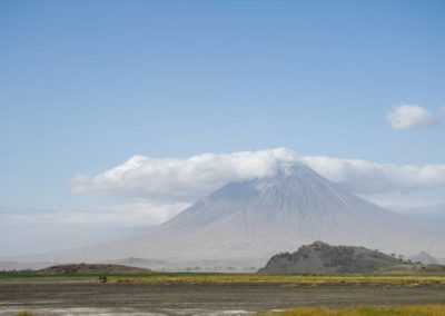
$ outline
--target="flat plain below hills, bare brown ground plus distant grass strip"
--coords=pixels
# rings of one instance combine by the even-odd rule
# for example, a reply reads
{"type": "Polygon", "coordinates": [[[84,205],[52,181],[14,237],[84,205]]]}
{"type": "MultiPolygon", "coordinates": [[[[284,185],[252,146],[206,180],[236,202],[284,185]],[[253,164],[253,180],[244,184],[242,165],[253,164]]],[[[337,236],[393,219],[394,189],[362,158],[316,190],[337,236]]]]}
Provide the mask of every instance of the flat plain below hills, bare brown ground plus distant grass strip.
{"type": "Polygon", "coordinates": [[[295,306],[444,304],[445,276],[8,275],[0,315],[227,315],[295,306]]]}

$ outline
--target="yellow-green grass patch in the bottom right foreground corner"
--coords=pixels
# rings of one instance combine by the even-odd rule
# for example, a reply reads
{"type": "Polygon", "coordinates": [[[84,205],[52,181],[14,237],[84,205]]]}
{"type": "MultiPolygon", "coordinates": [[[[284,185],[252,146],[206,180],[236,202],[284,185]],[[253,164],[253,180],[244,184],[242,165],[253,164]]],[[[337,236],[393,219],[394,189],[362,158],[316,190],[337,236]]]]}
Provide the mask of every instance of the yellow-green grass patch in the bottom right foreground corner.
{"type": "Polygon", "coordinates": [[[285,312],[260,313],[279,316],[444,316],[445,305],[359,306],[346,308],[296,307],[285,312]]]}

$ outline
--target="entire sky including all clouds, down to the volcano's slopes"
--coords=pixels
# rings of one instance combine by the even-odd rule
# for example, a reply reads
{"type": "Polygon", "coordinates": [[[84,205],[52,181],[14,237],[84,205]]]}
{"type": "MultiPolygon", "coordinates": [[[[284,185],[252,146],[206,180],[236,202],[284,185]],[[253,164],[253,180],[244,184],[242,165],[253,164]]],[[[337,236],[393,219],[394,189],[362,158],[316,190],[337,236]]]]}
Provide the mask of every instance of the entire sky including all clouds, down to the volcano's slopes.
{"type": "Polygon", "coordinates": [[[444,13],[2,1],[0,257],[137,236],[286,162],[443,225],[444,13]]]}

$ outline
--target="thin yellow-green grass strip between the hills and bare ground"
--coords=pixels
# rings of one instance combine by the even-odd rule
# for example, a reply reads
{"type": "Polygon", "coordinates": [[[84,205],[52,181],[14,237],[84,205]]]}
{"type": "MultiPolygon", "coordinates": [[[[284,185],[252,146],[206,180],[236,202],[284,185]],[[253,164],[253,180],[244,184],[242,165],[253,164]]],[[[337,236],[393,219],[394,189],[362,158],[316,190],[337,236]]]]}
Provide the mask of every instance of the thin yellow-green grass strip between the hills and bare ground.
{"type": "MultiPolygon", "coordinates": [[[[30,273],[1,273],[2,280],[91,280],[98,282],[100,274],[60,274],[42,275],[30,273]]],[[[445,275],[256,275],[256,274],[215,274],[215,273],[151,273],[151,274],[107,274],[109,283],[182,283],[182,284],[280,284],[299,285],[423,285],[445,286],[445,275]]]]}

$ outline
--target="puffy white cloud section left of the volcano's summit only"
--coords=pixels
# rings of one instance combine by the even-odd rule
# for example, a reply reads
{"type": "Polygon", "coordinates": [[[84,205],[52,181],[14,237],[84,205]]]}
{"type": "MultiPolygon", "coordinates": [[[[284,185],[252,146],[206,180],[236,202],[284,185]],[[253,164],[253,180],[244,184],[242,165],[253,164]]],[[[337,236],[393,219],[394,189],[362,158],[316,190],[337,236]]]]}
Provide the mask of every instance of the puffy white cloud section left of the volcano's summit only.
{"type": "Polygon", "coordinates": [[[285,148],[202,154],[188,159],[134,156],[93,178],[76,177],[72,188],[79,194],[147,198],[158,203],[195,201],[226,182],[273,175],[280,164],[296,159],[296,154],[285,148]]]}

